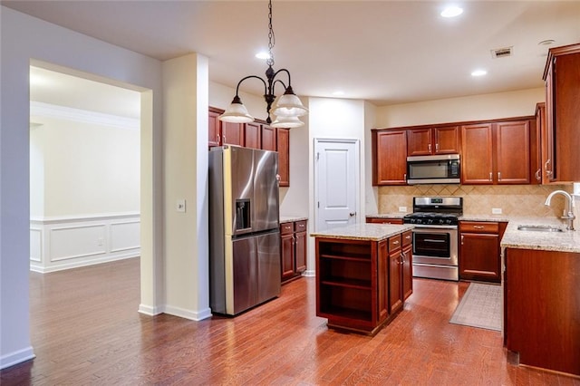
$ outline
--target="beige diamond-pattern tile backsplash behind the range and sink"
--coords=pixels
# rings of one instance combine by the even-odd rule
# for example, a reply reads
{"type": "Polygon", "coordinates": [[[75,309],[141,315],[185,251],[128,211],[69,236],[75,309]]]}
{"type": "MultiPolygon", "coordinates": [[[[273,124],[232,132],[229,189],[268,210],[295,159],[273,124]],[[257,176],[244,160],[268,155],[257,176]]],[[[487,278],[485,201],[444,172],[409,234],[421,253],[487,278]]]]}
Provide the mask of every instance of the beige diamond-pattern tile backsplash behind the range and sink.
{"type": "Polygon", "coordinates": [[[491,215],[501,208],[506,216],[560,217],[565,198],[556,196],[546,207],[546,197],[554,190],[572,193],[572,185],[413,185],[379,188],[379,213],[398,212],[399,207],[412,211],[413,197],[460,196],[466,215],[491,215]]]}

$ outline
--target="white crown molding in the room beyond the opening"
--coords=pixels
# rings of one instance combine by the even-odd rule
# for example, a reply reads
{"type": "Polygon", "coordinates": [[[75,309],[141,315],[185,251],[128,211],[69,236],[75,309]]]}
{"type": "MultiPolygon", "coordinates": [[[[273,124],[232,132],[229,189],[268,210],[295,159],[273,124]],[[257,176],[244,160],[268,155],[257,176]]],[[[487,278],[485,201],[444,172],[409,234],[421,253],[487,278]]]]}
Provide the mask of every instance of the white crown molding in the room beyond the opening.
{"type": "Polygon", "coordinates": [[[105,114],[97,111],[74,109],[42,101],[30,101],[30,115],[49,118],[60,118],[68,121],[94,123],[118,129],[140,130],[140,120],[105,114]]]}

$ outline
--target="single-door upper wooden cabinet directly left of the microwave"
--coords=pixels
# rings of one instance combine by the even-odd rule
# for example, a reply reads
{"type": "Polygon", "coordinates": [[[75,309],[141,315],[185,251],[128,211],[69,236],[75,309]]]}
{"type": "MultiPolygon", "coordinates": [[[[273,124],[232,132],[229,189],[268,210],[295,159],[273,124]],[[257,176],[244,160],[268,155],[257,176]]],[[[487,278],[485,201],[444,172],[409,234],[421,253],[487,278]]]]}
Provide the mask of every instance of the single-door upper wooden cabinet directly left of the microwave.
{"type": "Polygon", "coordinates": [[[372,130],[372,185],[407,185],[406,130],[372,130]]]}

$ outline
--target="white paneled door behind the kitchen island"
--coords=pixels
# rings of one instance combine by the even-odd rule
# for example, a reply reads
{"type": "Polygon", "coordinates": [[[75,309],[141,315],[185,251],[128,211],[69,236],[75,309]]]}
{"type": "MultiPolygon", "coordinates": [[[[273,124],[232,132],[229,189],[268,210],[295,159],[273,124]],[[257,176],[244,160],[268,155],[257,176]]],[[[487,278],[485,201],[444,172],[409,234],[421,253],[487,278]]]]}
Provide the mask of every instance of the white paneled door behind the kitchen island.
{"type": "Polygon", "coordinates": [[[358,150],[358,140],[314,140],[316,231],[357,222],[358,150]]]}

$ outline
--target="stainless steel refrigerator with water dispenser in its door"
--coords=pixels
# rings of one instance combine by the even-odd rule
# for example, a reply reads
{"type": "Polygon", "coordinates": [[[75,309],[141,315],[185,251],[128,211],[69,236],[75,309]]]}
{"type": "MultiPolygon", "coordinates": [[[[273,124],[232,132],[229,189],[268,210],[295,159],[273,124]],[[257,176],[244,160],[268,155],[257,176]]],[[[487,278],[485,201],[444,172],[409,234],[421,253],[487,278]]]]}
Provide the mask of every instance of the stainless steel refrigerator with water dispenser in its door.
{"type": "Polygon", "coordinates": [[[209,151],[209,306],[239,314],[280,294],[278,153],[209,151]]]}

